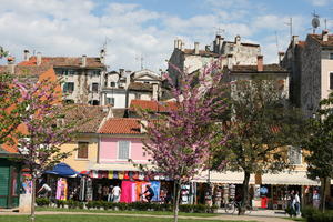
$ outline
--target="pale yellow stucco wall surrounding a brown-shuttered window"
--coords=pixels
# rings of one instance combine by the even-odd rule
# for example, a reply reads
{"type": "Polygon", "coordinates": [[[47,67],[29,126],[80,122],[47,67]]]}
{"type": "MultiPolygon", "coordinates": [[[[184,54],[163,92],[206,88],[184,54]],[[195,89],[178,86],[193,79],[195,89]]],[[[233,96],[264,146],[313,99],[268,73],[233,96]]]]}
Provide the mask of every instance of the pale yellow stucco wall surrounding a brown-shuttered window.
{"type": "Polygon", "coordinates": [[[98,135],[87,135],[79,137],[77,140],[70,143],[65,143],[61,147],[62,152],[72,152],[72,155],[67,158],[63,162],[69,164],[75,171],[89,170],[91,165],[95,164],[98,161],[98,135]],[[88,145],[88,159],[78,159],[78,142],[89,142],[88,145]]]}

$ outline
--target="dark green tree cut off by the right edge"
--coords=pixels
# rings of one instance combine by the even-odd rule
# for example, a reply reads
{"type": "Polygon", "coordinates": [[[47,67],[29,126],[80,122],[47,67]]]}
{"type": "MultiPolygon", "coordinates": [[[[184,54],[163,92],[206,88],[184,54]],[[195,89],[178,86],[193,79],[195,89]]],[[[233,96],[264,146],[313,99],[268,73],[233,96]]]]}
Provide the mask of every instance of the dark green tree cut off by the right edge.
{"type": "Polygon", "coordinates": [[[315,118],[309,120],[309,137],[303,142],[310,179],[321,179],[321,204],[325,211],[326,184],[333,176],[333,93],[320,102],[315,118]]]}

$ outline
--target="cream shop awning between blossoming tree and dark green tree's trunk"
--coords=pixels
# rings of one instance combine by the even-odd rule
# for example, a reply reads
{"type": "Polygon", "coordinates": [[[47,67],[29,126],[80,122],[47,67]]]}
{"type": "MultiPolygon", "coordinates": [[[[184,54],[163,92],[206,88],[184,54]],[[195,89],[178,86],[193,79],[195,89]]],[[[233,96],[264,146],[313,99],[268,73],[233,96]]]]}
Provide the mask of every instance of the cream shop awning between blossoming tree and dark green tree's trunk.
{"type": "MultiPolygon", "coordinates": [[[[210,172],[210,180],[209,180],[209,171],[202,171],[198,176],[193,178],[193,182],[212,182],[212,183],[234,183],[241,184],[244,180],[243,172],[210,172]]],[[[254,175],[250,176],[250,184],[254,184],[254,175]]]]}

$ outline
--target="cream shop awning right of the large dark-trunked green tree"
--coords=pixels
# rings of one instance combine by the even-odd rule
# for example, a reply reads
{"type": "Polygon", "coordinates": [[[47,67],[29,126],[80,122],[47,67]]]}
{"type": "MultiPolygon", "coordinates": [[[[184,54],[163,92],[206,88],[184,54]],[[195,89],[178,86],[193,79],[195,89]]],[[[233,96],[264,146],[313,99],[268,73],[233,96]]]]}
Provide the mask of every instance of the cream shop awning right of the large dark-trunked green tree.
{"type": "Polygon", "coordinates": [[[310,180],[306,171],[281,172],[279,174],[266,173],[262,175],[262,184],[274,185],[320,185],[320,181],[310,180]]]}

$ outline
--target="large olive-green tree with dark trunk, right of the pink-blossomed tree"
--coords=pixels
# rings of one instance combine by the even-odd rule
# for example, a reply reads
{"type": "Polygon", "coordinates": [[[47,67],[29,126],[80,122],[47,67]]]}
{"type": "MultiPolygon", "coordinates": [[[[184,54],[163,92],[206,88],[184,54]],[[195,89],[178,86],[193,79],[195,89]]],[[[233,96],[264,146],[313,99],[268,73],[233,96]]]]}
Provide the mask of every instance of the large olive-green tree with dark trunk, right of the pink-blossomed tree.
{"type": "MultiPolygon", "coordinates": [[[[231,112],[223,122],[225,145],[213,147],[212,167],[243,171],[242,204],[249,203],[250,175],[279,172],[290,168],[286,147],[297,145],[302,118],[287,105],[283,88],[275,79],[242,80],[231,84],[231,112]],[[226,163],[226,164],[225,164],[226,163]]],[[[220,128],[220,127],[219,127],[220,128]]]]}

